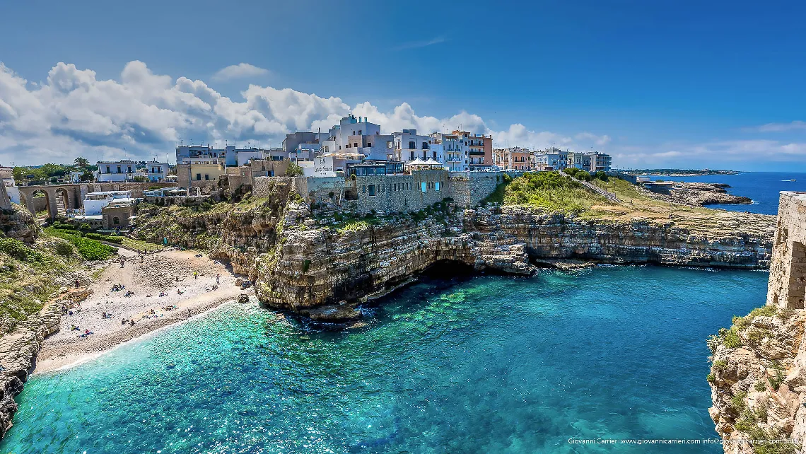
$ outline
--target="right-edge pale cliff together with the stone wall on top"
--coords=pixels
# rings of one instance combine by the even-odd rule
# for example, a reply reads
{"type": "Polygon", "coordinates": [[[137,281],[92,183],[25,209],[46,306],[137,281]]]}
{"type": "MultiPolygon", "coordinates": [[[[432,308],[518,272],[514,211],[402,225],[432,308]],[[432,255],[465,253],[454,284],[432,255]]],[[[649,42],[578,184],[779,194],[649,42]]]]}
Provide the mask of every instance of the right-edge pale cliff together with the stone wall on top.
{"type": "Polygon", "coordinates": [[[767,305],[708,339],[713,406],[725,452],[802,452],[806,440],[806,195],[783,192],[767,305]],[[783,443],[771,444],[771,440],[783,443]]]}

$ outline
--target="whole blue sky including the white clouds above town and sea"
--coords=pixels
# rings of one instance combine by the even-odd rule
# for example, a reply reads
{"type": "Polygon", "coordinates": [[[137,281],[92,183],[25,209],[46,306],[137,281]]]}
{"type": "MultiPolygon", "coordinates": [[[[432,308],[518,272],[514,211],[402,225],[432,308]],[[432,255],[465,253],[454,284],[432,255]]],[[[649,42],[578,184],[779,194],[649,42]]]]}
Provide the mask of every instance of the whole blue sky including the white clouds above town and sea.
{"type": "Polygon", "coordinates": [[[0,165],[384,133],[806,172],[802,2],[0,2],[0,165]]]}

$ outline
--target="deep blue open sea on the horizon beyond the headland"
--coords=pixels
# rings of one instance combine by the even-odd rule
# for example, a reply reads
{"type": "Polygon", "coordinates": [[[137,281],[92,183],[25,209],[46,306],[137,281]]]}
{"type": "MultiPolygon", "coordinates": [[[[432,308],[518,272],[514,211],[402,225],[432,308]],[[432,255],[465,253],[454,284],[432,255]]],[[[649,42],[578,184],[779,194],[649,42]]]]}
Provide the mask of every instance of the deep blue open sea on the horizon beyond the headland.
{"type": "Polygon", "coordinates": [[[728,192],[753,199],[747,205],[711,205],[732,211],[750,211],[762,215],[778,214],[778,198],[781,191],[806,191],[806,173],[796,172],[747,172],[737,175],[705,175],[703,177],[652,177],[665,181],[700,181],[703,183],[726,183],[728,192]],[[789,181],[796,180],[796,181],[789,181]]]}

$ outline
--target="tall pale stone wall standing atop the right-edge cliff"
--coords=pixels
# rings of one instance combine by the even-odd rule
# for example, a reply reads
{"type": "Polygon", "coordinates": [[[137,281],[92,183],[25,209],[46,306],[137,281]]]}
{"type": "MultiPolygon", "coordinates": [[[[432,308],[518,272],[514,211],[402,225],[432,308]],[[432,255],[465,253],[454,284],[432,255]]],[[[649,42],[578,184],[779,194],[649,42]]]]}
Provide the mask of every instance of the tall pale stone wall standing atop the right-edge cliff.
{"type": "Polygon", "coordinates": [[[767,304],[803,309],[806,298],[806,193],[782,192],[767,304]]]}

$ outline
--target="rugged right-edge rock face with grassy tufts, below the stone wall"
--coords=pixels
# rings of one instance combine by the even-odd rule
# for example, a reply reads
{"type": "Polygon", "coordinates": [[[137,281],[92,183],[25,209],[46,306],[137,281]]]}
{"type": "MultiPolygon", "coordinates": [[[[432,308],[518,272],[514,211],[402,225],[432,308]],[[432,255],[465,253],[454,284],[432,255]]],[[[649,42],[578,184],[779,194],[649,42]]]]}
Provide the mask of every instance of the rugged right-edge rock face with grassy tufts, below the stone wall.
{"type": "Polygon", "coordinates": [[[804,310],[764,306],[708,339],[708,413],[726,453],[800,452],[806,435],[804,321],[804,310]],[[787,443],[772,450],[769,440],[787,443]]]}

